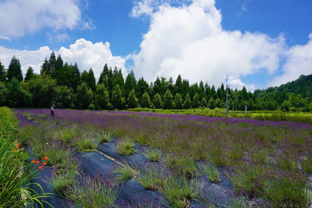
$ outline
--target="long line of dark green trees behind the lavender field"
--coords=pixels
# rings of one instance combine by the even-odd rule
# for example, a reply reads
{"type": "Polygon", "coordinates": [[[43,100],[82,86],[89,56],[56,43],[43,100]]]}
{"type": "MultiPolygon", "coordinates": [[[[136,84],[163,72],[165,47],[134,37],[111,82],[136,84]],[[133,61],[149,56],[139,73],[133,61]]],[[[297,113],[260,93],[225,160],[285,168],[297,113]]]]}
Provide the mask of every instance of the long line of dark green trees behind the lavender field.
{"type": "MultiPolygon", "coordinates": [[[[256,93],[259,91],[255,91],[256,93]]],[[[228,108],[235,110],[293,110],[311,111],[310,98],[301,94],[285,93],[280,99],[272,94],[255,93],[243,89],[228,89],[228,108]]],[[[222,83],[217,89],[201,80],[190,84],[188,79],[178,75],[158,77],[150,84],[140,77],[137,80],[134,71],[124,80],[121,69],[104,65],[96,83],[92,68],[80,73],[77,63],[68,64],[55,56],[52,51],[49,59],[41,65],[40,74],[33,72],[30,66],[23,79],[21,64],[13,56],[7,69],[0,61],[0,105],[12,107],[50,107],[81,109],[190,109],[190,108],[225,108],[226,88],[222,83]]]]}

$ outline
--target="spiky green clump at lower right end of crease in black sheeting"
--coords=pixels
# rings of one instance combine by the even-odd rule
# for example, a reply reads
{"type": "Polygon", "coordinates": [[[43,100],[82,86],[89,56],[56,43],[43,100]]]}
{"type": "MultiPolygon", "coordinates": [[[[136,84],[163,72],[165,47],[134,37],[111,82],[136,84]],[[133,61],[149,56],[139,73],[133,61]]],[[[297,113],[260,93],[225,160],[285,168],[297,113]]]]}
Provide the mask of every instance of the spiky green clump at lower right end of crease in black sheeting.
{"type": "Polygon", "coordinates": [[[127,161],[121,160],[114,163],[112,173],[115,175],[118,183],[122,183],[130,178],[136,178],[139,173],[139,169],[136,165],[131,163],[128,164],[127,161]]]}

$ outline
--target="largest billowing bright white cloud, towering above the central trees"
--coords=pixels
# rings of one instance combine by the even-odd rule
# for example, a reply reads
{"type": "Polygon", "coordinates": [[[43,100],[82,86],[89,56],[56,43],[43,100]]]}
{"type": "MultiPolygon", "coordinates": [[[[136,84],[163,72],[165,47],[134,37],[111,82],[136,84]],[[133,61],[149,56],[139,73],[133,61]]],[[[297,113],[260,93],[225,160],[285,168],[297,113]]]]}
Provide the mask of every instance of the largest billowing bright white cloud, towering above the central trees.
{"type": "MultiPolygon", "coordinates": [[[[146,10],[142,8],[138,15],[146,10]]],[[[181,74],[191,83],[207,80],[219,86],[226,75],[239,79],[263,70],[273,74],[284,53],[283,35],[271,38],[260,32],[223,30],[214,0],[194,0],[179,7],[165,3],[150,21],[139,53],[132,55],[135,72],[149,81],[157,75],[181,74]]]]}

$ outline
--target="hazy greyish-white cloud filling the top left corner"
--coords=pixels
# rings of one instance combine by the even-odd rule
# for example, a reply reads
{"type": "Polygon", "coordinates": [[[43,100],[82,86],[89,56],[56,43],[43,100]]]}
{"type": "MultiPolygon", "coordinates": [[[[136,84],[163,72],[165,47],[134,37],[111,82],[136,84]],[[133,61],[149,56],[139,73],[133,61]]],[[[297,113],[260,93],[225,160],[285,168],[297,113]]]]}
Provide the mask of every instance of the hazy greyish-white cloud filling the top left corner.
{"type": "MultiPolygon", "coordinates": [[[[8,0],[0,2],[2,38],[21,37],[42,28],[92,29],[89,18],[83,18],[77,0],[8,0]]],[[[0,37],[1,38],[1,37],[0,37]]]]}

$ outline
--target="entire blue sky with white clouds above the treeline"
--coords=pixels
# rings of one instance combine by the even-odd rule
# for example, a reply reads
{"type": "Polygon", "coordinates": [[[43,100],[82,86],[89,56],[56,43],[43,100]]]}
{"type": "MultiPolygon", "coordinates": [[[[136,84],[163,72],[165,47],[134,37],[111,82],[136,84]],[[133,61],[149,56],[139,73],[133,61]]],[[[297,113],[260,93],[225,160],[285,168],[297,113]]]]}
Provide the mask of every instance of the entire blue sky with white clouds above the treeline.
{"type": "Polygon", "coordinates": [[[6,68],[15,55],[38,73],[52,51],[96,79],[107,63],[253,92],[312,73],[312,1],[0,0],[6,68]]]}

